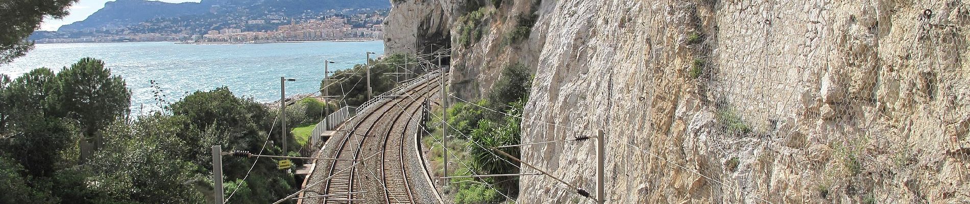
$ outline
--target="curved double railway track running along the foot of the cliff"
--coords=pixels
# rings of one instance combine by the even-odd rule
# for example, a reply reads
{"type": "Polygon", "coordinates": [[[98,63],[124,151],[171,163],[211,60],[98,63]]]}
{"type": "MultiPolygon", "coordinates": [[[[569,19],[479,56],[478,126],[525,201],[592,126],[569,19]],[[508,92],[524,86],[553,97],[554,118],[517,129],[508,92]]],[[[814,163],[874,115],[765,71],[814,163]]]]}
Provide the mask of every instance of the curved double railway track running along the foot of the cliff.
{"type": "MultiPolygon", "coordinates": [[[[429,79],[410,90],[404,91],[404,96],[395,97],[392,100],[378,103],[379,106],[368,107],[367,115],[363,115],[358,122],[347,131],[347,135],[340,141],[339,147],[334,150],[332,158],[351,159],[333,160],[328,169],[328,176],[333,179],[327,181],[323,187],[323,194],[333,194],[333,196],[323,197],[321,203],[362,203],[365,196],[360,193],[363,189],[360,183],[361,173],[369,170],[359,169],[361,165],[335,174],[340,170],[353,165],[353,160],[361,160],[362,150],[365,141],[373,140],[374,137],[380,138],[381,157],[378,161],[377,177],[378,183],[382,186],[383,197],[367,197],[366,200],[382,199],[382,203],[415,203],[414,192],[408,184],[407,171],[405,169],[404,137],[406,133],[413,134],[412,131],[405,132],[407,127],[414,123],[410,120],[424,100],[422,98],[435,93],[438,88],[439,75],[429,79]]],[[[376,105],[376,104],[375,104],[376,105]]],[[[368,161],[370,162],[370,161],[368,161]]]]}

